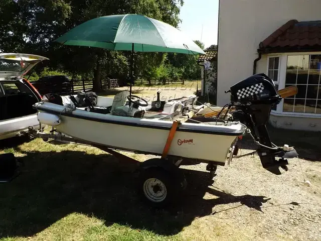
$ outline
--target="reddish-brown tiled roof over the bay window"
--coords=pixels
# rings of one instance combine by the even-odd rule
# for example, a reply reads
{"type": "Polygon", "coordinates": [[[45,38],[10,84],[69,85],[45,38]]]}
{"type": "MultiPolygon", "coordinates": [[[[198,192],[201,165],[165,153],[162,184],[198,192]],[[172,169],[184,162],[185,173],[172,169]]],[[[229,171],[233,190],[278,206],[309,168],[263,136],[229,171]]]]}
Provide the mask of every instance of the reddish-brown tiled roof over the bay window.
{"type": "Polygon", "coordinates": [[[259,51],[273,48],[280,51],[281,48],[320,50],[321,21],[288,21],[259,44],[259,51]]]}

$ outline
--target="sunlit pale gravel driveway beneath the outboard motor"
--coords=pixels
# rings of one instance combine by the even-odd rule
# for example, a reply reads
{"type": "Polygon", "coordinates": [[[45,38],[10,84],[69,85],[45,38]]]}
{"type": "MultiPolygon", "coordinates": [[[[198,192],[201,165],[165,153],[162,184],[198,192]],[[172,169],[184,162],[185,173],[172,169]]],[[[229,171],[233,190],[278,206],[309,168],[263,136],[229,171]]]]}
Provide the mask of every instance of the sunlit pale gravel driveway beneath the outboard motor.
{"type": "MultiPolygon", "coordinates": [[[[239,155],[255,148],[246,140],[240,147],[239,155]]],[[[321,162],[300,163],[312,186],[303,185],[297,159],[277,176],[256,154],[245,156],[218,167],[213,180],[206,164],[181,166],[188,188],[175,219],[190,222],[182,234],[191,240],[321,240],[321,162]]]]}

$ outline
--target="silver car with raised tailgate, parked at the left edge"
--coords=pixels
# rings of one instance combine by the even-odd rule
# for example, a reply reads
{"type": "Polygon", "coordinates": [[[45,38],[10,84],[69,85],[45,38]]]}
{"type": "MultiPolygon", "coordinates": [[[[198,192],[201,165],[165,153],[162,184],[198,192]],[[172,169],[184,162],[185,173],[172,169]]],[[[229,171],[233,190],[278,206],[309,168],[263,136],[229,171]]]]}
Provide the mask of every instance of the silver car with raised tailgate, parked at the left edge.
{"type": "Polygon", "coordinates": [[[41,95],[23,76],[47,58],[31,54],[0,54],[0,140],[39,126],[33,104],[41,95]]]}

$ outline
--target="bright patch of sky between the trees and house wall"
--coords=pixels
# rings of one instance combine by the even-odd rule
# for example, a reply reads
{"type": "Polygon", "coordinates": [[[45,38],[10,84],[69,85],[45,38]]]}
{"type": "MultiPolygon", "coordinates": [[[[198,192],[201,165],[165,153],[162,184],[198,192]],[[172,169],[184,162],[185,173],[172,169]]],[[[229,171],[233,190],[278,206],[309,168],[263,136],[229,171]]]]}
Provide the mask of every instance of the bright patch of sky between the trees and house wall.
{"type": "Polygon", "coordinates": [[[184,0],[179,28],[193,40],[201,40],[205,48],[217,44],[219,0],[184,0]],[[203,25],[203,35],[202,35],[203,25]]]}

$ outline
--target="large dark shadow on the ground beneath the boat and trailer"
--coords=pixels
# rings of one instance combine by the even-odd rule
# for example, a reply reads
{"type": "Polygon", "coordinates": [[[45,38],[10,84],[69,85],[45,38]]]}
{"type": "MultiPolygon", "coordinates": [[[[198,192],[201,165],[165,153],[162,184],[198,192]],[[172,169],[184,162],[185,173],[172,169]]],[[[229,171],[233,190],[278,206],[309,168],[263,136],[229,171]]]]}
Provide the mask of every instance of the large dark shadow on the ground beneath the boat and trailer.
{"type": "Polygon", "coordinates": [[[260,210],[268,200],[210,188],[213,181],[208,173],[184,170],[189,182],[185,196],[178,205],[157,210],[141,201],[133,168],[111,155],[79,151],[25,154],[21,175],[1,185],[0,238],[32,236],[72,212],[98,217],[106,225],[119,223],[171,235],[196,217],[215,214],[215,205],[240,202],[260,210]],[[206,192],[217,198],[203,199],[206,192]]]}

